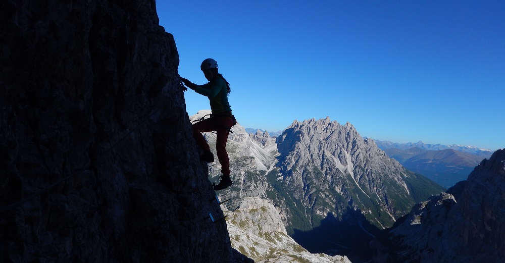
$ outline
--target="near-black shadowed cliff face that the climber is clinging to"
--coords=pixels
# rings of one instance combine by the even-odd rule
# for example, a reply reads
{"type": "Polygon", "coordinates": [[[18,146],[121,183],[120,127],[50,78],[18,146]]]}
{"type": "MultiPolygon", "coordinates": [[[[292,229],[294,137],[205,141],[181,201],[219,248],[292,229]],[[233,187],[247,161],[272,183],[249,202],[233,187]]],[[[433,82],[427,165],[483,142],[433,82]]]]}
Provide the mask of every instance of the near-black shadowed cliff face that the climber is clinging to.
{"type": "Polygon", "coordinates": [[[0,261],[235,261],[154,0],[6,0],[0,34],[0,261]]]}

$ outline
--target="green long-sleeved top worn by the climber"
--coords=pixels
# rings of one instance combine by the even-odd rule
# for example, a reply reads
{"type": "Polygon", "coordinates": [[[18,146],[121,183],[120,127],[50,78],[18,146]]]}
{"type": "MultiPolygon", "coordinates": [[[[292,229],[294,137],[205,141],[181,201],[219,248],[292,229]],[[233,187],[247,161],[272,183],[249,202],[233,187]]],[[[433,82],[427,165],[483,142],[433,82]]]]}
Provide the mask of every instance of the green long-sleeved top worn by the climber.
{"type": "Polygon", "coordinates": [[[231,112],[228,102],[228,86],[224,78],[217,77],[204,85],[191,84],[188,86],[190,89],[209,98],[212,114],[231,112]]]}

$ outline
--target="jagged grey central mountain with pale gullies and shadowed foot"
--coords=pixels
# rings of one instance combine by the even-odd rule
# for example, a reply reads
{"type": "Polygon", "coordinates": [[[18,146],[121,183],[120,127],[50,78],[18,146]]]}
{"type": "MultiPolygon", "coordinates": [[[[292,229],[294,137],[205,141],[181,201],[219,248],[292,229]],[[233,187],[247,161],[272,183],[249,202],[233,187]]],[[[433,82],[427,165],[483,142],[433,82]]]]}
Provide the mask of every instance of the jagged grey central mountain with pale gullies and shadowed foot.
{"type": "Polygon", "coordinates": [[[361,242],[442,190],[388,157],[350,123],[294,121],[277,137],[277,147],[279,184],[297,202],[285,206],[293,238],[312,252],[363,253],[361,242]]]}

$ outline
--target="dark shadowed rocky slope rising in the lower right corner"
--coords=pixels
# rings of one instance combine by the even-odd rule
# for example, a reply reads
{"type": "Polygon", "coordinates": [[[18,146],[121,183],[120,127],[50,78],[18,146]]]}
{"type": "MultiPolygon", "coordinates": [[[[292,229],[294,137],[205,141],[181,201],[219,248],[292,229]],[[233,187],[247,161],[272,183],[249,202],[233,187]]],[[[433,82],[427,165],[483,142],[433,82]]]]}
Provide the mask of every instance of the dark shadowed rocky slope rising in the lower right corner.
{"type": "Polygon", "coordinates": [[[505,257],[505,150],[373,241],[374,262],[500,262],[505,257]]]}

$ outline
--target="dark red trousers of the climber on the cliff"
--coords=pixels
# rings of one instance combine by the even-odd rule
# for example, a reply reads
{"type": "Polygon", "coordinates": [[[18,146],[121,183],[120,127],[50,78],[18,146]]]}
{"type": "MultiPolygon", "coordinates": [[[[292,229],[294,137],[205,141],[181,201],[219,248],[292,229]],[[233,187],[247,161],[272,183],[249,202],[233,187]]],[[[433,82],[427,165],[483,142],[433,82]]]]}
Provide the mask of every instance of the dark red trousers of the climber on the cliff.
{"type": "Polygon", "coordinates": [[[221,173],[224,176],[230,175],[230,160],[228,159],[228,152],[226,152],[226,141],[228,140],[231,126],[233,126],[233,119],[227,115],[213,115],[209,119],[193,124],[193,137],[196,144],[204,150],[210,151],[210,147],[201,133],[216,131],[216,151],[219,163],[221,164],[221,173]]]}

